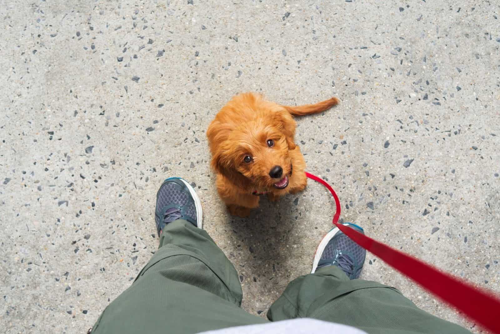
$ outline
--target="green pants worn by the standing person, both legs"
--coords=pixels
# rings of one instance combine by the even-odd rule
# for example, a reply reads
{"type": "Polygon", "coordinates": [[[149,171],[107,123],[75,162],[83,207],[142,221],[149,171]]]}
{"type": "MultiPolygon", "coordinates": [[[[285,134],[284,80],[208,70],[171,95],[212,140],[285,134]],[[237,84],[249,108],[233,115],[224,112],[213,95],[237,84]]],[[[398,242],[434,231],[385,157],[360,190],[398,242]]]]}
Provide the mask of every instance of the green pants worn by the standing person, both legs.
{"type": "MultiPolygon", "coordinates": [[[[185,220],[169,223],[158,251],[113,300],[92,333],[196,333],[268,320],[241,309],[234,266],[208,234],[185,220]]],[[[270,321],[310,317],[368,333],[468,333],[419,309],[401,292],[353,279],[336,266],[291,281],[270,306],[270,321]]]]}

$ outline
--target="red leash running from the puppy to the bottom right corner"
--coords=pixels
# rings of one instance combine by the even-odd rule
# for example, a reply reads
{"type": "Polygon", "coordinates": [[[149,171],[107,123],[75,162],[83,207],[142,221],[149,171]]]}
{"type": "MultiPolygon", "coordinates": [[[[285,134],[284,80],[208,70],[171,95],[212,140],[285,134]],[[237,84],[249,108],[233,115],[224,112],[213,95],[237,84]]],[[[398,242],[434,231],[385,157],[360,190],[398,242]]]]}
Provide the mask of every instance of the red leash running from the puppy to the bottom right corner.
{"type": "Polygon", "coordinates": [[[305,175],[323,184],[335,199],[336,211],[333,224],[361,247],[380,257],[388,265],[411,278],[444,302],[477,321],[492,333],[500,333],[500,299],[493,293],[477,288],[415,257],[391,248],[359,233],[355,229],[339,224],[340,201],[335,190],[321,178],[308,172],[305,175]]]}

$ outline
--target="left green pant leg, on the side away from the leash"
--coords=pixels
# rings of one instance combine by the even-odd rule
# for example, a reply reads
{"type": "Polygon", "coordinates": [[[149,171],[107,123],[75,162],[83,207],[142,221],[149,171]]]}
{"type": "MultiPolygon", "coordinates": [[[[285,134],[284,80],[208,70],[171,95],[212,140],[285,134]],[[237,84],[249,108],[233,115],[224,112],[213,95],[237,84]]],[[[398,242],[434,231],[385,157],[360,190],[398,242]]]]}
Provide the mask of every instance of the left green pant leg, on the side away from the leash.
{"type": "Polygon", "coordinates": [[[267,322],[241,309],[236,269],[208,234],[167,224],[132,285],[102,312],[92,333],[196,333],[267,322]]]}

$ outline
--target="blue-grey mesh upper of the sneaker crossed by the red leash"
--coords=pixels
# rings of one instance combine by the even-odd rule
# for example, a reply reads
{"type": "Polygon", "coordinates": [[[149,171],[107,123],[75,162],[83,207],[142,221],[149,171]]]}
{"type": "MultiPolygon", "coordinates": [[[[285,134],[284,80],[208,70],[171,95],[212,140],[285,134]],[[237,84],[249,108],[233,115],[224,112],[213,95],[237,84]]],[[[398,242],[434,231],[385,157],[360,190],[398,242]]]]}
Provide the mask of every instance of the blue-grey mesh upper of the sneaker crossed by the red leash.
{"type": "MultiPolygon", "coordinates": [[[[364,234],[362,228],[349,224],[350,227],[364,234]]],[[[343,232],[338,231],[328,241],[324,248],[317,267],[336,265],[342,269],[350,279],[358,278],[364,264],[366,250],[352,241],[343,232]]]]}

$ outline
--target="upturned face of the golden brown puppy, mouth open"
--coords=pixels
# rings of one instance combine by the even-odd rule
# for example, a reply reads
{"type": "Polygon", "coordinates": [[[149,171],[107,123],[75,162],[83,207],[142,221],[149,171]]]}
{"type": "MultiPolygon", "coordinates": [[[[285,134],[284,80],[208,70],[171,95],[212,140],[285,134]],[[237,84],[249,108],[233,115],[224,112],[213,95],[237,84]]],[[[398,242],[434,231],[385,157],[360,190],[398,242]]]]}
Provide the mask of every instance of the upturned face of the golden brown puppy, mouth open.
{"type": "Polygon", "coordinates": [[[232,129],[218,145],[212,166],[248,191],[286,192],[289,145],[276,117],[258,117],[232,129]]]}

